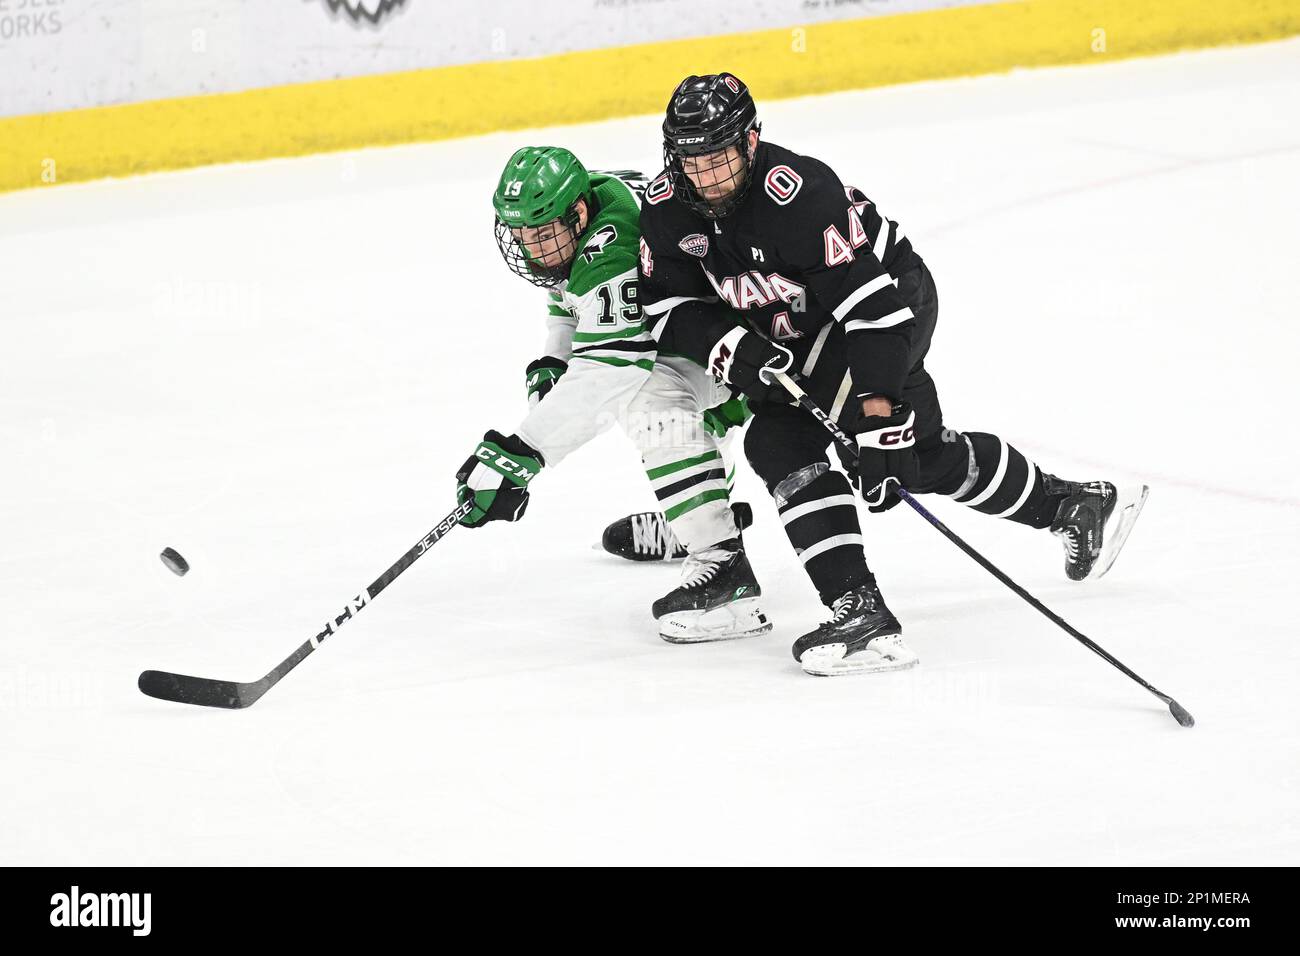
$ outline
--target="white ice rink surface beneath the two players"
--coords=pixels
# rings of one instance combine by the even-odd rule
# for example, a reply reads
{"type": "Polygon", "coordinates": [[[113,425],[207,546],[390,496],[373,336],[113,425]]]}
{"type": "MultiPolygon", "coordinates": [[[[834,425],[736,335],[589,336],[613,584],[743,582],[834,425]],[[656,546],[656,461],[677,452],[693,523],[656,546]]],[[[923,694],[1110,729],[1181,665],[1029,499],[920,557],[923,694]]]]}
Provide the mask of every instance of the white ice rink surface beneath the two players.
{"type": "Polygon", "coordinates": [[[931,503],[1191,731],[906,507],[864,524],[920,667],[805,676],[745,466],[776,630],[664,644],[676,571],[590,550],[651,502],[618,433],[256,708],[146,698],[260,676],[450,509],[542,341],[497,170],[654,169],[656,120],[0,196],[0,862],[1300,862],[1297,101],[1287,42],[762,105],[933,269],[949,424],[1152,485],[1083,587],[931,503]]]}

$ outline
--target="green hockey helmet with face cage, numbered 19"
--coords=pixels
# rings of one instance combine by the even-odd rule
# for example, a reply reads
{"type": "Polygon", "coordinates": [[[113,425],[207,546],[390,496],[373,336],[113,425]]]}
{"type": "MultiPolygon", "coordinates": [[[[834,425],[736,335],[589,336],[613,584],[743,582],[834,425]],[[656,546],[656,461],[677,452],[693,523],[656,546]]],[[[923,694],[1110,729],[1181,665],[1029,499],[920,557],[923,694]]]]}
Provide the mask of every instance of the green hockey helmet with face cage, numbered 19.
{"type": "Polygon", "coordinates": [[[502,170],[493,208],[497,247],[515,274],[550,289],[569,274],[577,252],[577,200],[592,208],[592,177],[568,150],[525,146],[502,170]]]}

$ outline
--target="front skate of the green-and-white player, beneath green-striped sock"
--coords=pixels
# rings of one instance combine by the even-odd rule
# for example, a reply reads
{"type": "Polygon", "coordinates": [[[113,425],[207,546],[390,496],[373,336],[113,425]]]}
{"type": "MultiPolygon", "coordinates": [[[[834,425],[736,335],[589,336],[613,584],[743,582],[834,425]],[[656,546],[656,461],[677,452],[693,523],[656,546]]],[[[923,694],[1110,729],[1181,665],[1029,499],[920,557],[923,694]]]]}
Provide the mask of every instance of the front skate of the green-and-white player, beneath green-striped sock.
{"type": "Polygon", "coordinates": [[[686,557],[681,584],[654,602],[659,636],[670,644],[753,637],[772,630],[759,607],[762,589],[740,538],[686,557]]]}

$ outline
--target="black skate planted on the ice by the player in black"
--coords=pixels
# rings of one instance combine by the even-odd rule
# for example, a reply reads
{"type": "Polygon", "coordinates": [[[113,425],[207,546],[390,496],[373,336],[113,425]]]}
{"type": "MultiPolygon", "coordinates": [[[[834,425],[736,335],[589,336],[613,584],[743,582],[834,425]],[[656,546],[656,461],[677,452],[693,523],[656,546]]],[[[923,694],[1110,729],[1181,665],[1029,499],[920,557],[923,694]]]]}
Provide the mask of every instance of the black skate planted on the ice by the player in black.
{"type": "Polygon", "coordinates": [[[832,605],[832,618],[790,648],[805,674],[835,678],[915,667],[919,658],[904,644],[902,626],[885,607],[880,589],[863,585],[832,605]]]}

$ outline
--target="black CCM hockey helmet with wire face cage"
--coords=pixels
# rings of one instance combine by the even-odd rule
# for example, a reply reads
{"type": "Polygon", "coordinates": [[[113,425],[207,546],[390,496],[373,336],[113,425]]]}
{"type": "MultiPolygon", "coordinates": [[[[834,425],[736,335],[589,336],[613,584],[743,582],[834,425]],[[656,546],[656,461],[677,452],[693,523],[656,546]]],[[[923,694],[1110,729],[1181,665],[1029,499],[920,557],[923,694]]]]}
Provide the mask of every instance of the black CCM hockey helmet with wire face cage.
{"type": "Polygon", "coordinates": [[[749,193],[750,168],[754,157],[749,153],[750,130],[759,129],[754,98],[731,73],[711,73],[705,77],[686,77],[668,100],[663,121],[663,164],[668,170],[673,191],[692,209],[705,219],[723,219],[729,215],[749,193]],[[723,156],[725,176],[715,183],[696,189],[682,168],[688,156],[722,153],[731,146],[740,147],[741,169],[731,170],[723,156]],[[728,189],[734,186],[733,189],[728,189]],[[710,198],[710,190],[725,195],[710,198]]]}

